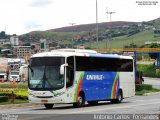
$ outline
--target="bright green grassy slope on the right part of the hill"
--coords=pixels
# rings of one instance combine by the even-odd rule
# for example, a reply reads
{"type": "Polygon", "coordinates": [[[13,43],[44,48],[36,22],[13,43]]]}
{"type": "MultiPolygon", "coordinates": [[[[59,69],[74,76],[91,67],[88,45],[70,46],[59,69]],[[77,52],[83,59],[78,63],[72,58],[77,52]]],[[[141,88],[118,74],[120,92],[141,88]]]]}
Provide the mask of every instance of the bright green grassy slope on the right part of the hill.
{"type": "Polygon", "coordinates": [[[154,37],[153,30],[145,30],[133,36],[120,36],[111,39],[104,39],[102,41],[86,43],[86,47],[91,48],[124,48],[124,46],[134,43],[138,47],[145,44],[146,41],[160,41],[160,37],[154,37]]]}

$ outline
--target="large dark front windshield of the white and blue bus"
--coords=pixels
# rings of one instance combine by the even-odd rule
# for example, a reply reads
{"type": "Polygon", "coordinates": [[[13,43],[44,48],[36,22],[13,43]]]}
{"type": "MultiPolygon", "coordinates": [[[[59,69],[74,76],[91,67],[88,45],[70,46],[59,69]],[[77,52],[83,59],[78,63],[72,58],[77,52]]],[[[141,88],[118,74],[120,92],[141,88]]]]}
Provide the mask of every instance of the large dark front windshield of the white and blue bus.
{"type": "Polygon", "coordinates": [[[58,90],[64,87],[60,66],[64,57],[35,57],[29,64],[29,88],[34,90],[58,90]]]}

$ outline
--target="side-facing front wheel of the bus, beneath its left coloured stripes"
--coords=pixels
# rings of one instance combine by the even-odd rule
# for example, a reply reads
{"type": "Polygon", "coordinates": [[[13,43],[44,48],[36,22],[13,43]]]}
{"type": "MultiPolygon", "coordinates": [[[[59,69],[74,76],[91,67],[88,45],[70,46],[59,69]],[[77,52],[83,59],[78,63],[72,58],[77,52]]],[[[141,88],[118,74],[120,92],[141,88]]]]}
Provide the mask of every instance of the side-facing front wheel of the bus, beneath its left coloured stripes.
{"type": "Polygon", "coordinates": [[[85,97],[84,97],[84,94],[80,94],[78,96],[78,101],[76,103],[73,103],[73,107],[82,107],[83,105],[85,104],[85,97]]]}

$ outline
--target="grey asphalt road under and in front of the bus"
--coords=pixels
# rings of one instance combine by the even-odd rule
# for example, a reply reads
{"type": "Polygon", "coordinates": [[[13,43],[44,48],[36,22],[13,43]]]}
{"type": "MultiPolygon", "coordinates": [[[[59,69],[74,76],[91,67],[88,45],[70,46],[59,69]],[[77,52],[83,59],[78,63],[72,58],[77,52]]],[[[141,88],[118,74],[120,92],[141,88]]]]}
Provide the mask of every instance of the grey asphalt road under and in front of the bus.
{"type": "MultiPolygon", "coordinates": [[[[15,120],[93,120],[103,118],[114,119],[115,115],[132,118],[136,114],[153,114],[153,120],[159,119],[160,114],[160,93],[147,96],[134,96],[124,99],[120,104],[110,102],[100,102],[99,105],[89,106],[86,104],[82,108],[73,108],[71,104],[58,104],[53,109],[47,110],[43,105],[11,106],[5,108],[0,106],[0,120],[5,117],[15,118],[15,120]],[[16,119],[17,117],[17,119],[16,119]],[[101,116],[102,117],[102,116],[101,116]]],[[[152,116],[152,117],[153,117],[152,116]]],[[[119,120],[124,120],[121,118],[119,120]]]]}

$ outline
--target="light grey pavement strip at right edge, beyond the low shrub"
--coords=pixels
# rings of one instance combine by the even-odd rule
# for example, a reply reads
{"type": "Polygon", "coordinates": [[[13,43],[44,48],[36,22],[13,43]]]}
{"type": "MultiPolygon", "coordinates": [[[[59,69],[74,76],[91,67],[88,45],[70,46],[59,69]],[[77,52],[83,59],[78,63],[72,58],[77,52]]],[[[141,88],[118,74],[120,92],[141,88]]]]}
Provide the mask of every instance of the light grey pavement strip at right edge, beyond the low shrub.
{"type": "Polygon", "coordinates": [[[160,89],[160,78],[143,77],[144,84],[152,85],[153,88],[160,89]]]}

